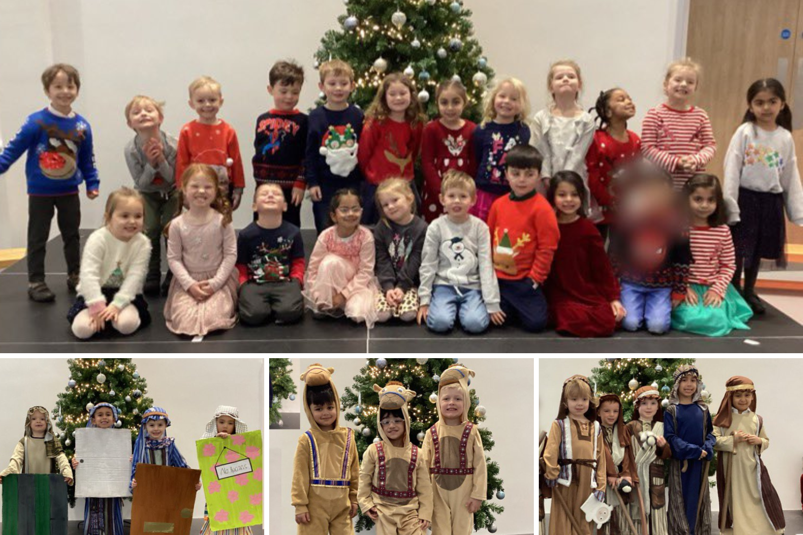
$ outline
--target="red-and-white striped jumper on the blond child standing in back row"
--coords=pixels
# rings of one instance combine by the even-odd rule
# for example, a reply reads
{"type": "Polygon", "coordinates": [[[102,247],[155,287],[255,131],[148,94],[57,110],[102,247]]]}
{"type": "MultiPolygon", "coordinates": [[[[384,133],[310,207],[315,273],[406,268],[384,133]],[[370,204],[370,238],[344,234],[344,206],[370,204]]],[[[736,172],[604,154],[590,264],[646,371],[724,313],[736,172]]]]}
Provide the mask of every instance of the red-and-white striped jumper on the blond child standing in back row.
{"type": "Polygon", "coordinates": [[[714,131],[708,114],[701,107],[676,110],[666,103],[650,108],[642,121],[642,152],[650,161],[671,172],[675,189],[695,172],[703,171],[716,151],[714,131]],[[679,167],[682,156],[691,156],[696,169],[679,167]]]}

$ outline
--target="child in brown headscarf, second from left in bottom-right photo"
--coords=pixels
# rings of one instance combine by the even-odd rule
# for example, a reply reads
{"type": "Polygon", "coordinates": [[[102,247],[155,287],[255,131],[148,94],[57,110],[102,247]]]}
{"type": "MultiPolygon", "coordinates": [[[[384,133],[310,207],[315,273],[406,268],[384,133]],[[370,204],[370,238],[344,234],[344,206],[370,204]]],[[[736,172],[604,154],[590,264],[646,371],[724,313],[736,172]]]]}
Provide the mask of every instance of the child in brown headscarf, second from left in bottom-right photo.
{"type": "Polygon", "coordinates": [[[598,413],[597,419],[602,424],[602,440],[605,443],[605,468],[608,478],[605,503],[613,507],[610,520],[599,531],[605,535],[631,533],[630,522],[627,519],[630,518],[630,505],[639,503],[636,490],[638,487],[635,486],[639,480],[636,460],[633,450],[630,449],[630,431],[622,419],[622,399],[616,394],[601,395],[598,413]],[[619,490],[619,485],[623,482],[630,485],[631,492],[619,490]]]}

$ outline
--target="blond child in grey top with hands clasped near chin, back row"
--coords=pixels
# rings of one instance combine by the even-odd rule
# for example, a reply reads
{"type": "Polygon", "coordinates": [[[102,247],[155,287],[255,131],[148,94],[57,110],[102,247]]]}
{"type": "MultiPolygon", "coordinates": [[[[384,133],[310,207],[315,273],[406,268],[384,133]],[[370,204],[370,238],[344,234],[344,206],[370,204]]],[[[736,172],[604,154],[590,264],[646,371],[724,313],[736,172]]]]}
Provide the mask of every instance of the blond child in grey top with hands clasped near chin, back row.
{"type": "MultiPolygon", "coordinates": [[[[134,188],[145,202],[145,235],[151,241],[145,295],[157,296],[161,282],[161,231],[176,213],[178,191],[175,184],[177,140],[161,131],[164,104],[149,96],[137,95],[125,107],[125,121],[137,135],[125,145],[125,163],[134,179],[134,188]]],[[[168,270],[161,293],[167,295],[168,270]]]]}

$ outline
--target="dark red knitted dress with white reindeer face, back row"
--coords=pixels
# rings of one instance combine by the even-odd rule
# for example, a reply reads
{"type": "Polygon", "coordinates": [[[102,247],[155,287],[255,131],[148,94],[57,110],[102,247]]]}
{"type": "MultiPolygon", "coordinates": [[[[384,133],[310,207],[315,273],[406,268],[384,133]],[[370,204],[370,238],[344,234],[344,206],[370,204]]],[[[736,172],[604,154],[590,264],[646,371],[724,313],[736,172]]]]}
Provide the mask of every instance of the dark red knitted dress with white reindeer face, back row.
{"type": "Polygon", "coordinates": [[[457,169],[474,175],[477,170],[474,143],[471,139],[475,128],[475,123],[466,120],[461,128],[452,130],[438,119],[431,120],[424,128],[421,141],[421,167],[424,172],[421,213],[427,223],[443,213],[438,196],[446,171],[457,169]]]}

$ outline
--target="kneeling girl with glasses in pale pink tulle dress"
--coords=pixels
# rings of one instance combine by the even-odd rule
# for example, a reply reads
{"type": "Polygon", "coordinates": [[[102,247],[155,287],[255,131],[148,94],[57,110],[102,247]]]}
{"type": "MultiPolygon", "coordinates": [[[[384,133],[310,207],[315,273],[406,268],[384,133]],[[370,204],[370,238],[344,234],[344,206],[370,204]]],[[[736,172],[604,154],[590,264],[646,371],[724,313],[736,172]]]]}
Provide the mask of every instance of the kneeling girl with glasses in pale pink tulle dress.
{"type": "Polygon", "coordinates": [[[334,226],[315,242],[301,294],[316,318],[345,314],[371,328],[377,321],[373,234],[360,225],[357,190],[340,189],[331,202],[329,217],[334,226]]]}

